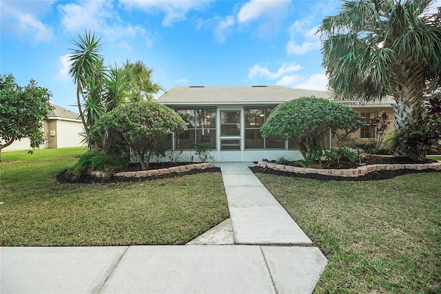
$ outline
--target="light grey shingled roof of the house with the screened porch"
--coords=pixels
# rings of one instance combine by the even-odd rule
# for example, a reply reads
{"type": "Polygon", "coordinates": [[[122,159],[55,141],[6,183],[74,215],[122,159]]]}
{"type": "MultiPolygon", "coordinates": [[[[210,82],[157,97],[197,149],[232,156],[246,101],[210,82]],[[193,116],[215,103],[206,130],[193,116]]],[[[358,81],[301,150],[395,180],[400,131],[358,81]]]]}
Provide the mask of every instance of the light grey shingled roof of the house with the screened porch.
{"type": "MultiPolygon", "coordinates": [[[[175,86],[156,99],[165,105],[280,104],[300,97],[334,100],[332,92],[270,86],[175,86]]],[[[382,103],[336,101],[351,107],[391,107],[390,97],[382,103]]]]}

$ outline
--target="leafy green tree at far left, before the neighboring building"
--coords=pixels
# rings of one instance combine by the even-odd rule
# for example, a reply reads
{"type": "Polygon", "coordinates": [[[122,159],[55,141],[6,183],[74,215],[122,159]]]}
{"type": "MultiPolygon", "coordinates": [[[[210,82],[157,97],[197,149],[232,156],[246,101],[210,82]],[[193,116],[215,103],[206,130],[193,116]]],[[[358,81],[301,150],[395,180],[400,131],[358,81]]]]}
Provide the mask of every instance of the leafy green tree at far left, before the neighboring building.
{"type": "Polygon", "coordinates": [[[34,80],[23,88],[12,74],[0,76],[0,161],[1,149],[14,140],[29,138],[32,148],[44,142],[41,122],[52,109],[50,96],[48,89],[37,87],[34,80]]]}

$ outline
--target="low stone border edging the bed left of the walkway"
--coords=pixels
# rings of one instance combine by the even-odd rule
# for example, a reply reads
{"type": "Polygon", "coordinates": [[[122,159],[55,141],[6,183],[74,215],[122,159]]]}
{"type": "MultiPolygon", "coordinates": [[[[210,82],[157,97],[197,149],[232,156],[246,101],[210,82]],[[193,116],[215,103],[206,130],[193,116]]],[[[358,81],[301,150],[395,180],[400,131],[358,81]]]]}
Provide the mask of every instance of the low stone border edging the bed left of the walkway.
{"type": "MultiPolygon", "coordinates": [[[[172,173],[182,173],[185,171],[191,171],[192,169],[208,169],[213,167],[211,162],[194,163],[192,165],[178,165],[176,167],[168,167],[166,169],[149,169],[147,171],[124,171],[114,173],[112,176],[117,178],[144,178],[149,176],[160,176],[172,173]]],[[[92,171],[90,173],[96,178],[104,178],[105,173],[103,171],[92,171]]]]}

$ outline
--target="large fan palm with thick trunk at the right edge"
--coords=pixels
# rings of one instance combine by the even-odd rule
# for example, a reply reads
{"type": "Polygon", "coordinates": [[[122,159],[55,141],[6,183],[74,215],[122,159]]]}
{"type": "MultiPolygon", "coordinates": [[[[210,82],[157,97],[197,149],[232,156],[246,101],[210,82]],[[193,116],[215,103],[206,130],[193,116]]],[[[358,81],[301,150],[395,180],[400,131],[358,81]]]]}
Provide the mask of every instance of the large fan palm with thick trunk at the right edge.
{"type": "MultiPolygon", "coordinates": [[[[329,87],[344,99],[394,106],[396,138],[418,126],[427,81],[440,83],[439,14],[427,14],[431,0],[349,0],[322,21],[322,56],[329,87]]],[[[394,154],[411,156],[405,141],[394,154]]]]}

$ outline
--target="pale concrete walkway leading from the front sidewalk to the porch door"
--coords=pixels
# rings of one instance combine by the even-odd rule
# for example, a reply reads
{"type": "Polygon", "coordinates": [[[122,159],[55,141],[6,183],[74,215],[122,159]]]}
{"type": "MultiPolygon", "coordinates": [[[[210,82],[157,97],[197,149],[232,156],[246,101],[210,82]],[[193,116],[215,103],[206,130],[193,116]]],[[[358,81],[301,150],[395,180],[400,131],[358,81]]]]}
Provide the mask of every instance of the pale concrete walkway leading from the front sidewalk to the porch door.
{"type": "Polygon", "coordinates": [[[311,293],[325,256],[247,164],[218,166],[231,219],[192,246],[0,247],[0,293],[311,293]]]}

